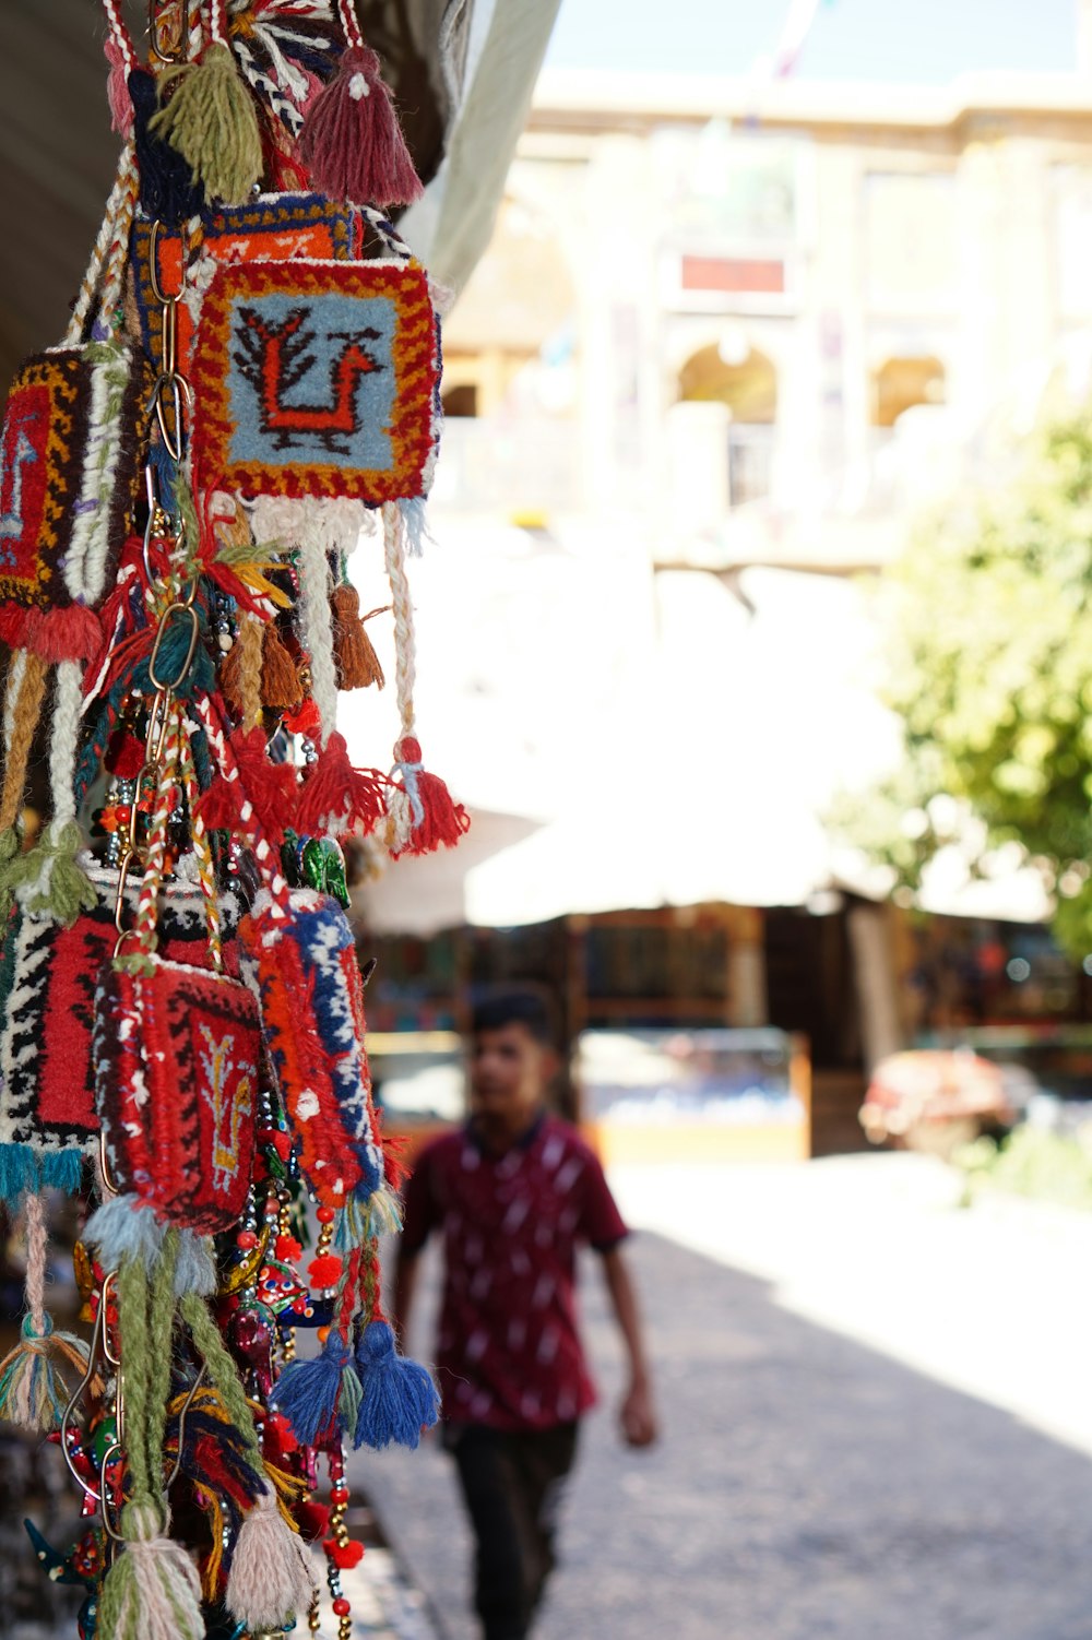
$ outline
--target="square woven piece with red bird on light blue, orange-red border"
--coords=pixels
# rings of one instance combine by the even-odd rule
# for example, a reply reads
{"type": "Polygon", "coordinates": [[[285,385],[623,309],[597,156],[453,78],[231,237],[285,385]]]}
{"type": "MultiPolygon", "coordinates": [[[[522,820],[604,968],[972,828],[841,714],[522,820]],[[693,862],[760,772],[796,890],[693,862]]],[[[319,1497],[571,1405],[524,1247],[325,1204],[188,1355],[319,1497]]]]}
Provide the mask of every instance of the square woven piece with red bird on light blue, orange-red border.
{"type": "Polygon", "coordinates": [[[436,320],[418,262],[221,267],[202,303],[193,461],[251,495],[423,495],[436,320]]]}

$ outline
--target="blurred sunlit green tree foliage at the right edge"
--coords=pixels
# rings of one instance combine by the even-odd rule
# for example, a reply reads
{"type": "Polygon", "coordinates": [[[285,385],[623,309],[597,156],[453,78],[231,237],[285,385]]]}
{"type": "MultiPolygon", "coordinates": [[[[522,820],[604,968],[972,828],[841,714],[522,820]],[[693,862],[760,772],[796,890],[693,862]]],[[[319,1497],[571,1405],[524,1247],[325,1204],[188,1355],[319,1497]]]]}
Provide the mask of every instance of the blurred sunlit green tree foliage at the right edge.
{"type": "MultiPolygon", "coordinates": [[[[887,594],[889,704],[907,766],[854,841],[917,886],[967,809],[1021,845],[1092,951],[1092,408],[1030,441],[1008,482],[923,526],[887,594]],[[956,802],[953,802],[953,799],[956,802]]],[[[862,810],[858,810],[861,817],[862,810]]]]}

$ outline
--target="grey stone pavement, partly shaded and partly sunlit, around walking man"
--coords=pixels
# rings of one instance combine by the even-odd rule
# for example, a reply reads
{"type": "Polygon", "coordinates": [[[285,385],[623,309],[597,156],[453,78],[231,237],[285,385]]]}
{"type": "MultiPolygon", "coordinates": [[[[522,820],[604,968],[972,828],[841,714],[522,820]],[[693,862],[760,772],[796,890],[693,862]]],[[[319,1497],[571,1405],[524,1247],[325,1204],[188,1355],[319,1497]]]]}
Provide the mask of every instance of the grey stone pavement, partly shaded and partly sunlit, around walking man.
{"type": "MultiPolygon", "coordinates": [[[[538,1640],[1089,1640],[1085,1220],[959,1214],[918,1158],[698,1174],[617,1181],[633,1222],[690,1241],[633,1243],[664,1438],[630,1453],[608,1410],[589,1419],[538,1640]],[[982,1328],[1021,1358],[1015,1389],[976,1356],[982,1328]],[[1066,1442],[1028,1422],[1049,1424],[1054,1379],[1066,1442]]],[[[610,1407],[620,1353],[587,1276],[610,1407]]],[[[444,1640],[471,1640],[448,1460],[362,1456],[356,1481],[444,1640]]]]}

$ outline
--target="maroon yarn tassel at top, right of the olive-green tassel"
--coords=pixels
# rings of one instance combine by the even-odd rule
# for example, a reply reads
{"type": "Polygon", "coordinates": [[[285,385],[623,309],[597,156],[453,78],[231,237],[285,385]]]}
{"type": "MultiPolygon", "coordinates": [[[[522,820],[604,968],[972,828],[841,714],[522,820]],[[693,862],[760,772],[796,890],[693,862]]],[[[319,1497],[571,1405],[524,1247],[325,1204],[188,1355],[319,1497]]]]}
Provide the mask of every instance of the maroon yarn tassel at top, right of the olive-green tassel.
{"type": "Polygon", "coordinates": [[[367,46],[346,51],[315,98],[300,157],[320,194],[356,205],[412,205],[425,192],[398,115],[367,46]]]}

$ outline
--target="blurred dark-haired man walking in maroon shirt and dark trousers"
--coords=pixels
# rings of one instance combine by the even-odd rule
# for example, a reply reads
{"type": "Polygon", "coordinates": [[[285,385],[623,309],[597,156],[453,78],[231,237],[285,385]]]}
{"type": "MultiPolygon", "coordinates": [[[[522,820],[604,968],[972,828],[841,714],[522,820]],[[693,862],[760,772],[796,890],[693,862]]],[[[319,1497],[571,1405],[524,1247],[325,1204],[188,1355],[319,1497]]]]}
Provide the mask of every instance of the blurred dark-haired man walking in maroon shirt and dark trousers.
{"type": "Polygon", "coordinates": [[[395,1325],[405,1337],[418,1258],[443,1235],[438,1374],[444,1445],[477,1542],[484,1640],[525,1640],[554,1565],[554,1520],[595,1401],[576,1323],[576,1251],[602,1258],[628,1358],[621,1433],[656,1438],[626,1227],[576,1128],[546,1110],[557,1069],[549,1009],[533,991],[474,1012],[469,1122],[421,1151],[405,1192],[395,1325]]]}

